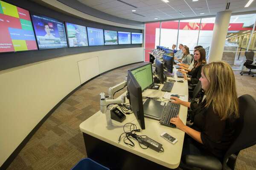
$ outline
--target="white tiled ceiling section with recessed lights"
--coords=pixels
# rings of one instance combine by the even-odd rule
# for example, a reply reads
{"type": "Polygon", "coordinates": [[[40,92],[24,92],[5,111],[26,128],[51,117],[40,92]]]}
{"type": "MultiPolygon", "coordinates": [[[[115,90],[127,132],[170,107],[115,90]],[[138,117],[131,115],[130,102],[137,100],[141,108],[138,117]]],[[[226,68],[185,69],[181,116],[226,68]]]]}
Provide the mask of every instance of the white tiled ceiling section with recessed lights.
{"type": "MultiPolygon", "coordinates": [[[[155,21],[154,18],[159,18],[158,20],[170,20],[175,18],[215,15],[217,12],[224,11],[226,8],[226,0],[198,0],[197,2],[192,2],[192,0],[169,0],[169,3],[164,3],[162,0],[122,1],[136,6],[137,8],[117,0],[79,0],[79,2],[107,14],[141,22],[155,21]],[[209,5],[210,13],[207,3],[209,5]],[[173,8],[179,9],[184,14],[184,17],[173,8]],[[133,14],[131,10],[136,10],[135,13],[144,15],[145,17],[133,14]]],[[[228,1],[230,2],[230,10],[232,10],[233,13],[256,11],[256,1],[254,1],[248,8],[244,8],[244,5],[248,0],[228,1]]]]}

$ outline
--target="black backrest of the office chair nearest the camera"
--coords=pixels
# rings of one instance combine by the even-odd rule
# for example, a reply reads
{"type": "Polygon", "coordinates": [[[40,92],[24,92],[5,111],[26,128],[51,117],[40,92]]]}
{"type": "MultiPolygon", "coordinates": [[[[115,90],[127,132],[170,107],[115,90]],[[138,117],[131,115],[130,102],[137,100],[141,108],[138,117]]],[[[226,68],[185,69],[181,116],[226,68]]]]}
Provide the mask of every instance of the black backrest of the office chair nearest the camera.
{"type": "Polygon", "coordinates": [[[236,138],[224,156],[224,169],[230,155],[256,144],[256,101],[248,94],[240,96],[238,100],[240,117],[236,125],[236,138]]]}

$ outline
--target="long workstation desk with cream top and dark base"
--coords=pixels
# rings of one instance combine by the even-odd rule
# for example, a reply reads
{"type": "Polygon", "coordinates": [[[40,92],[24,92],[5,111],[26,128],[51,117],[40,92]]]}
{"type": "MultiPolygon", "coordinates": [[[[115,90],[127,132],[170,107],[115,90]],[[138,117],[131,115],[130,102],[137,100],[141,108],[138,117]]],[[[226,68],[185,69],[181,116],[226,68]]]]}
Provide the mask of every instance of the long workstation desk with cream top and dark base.
{"type": "MultiPolygon", "coordinates": [[[[170,77],[167,79],[170,79],[170,77]]],[[[177,78],[175,73],[175,77],[171,79],[183,78],[177,78]]],[[[186,95],[187,99],[188,84],[186,80],[183,79],[183,81],[183,83],[175,82],[171,93],[186,95]]],[[[165,92],[161,91],[162,87],[163,85],[160,86],[159,90],[147,89],[142,95],[159,96],[162,98],[165,94],[165,92]]],[[[186,123],[186,115],[187,108],[181,105],[179,116],[184,123],[186,123]]],[[[118,143],[119,135],[123,133],[123,125],[128,122],[134,123],[137,125],[137,128],[140,128],[134,114],[126,115],[126,119],[120,123],[110,118],[110,109],[106,113],[98,111],[82,122],[80,130],[84,135],[87,156],[109,167],[111,170],[141,170],[146,168],[165,170],[169,168],[174,169],[179,166],[184,139],[183,131],[160,125],[159,121],[145,117],[145,130],[137,132],[137,134],[147,135],[151,139],[163,144],[164,152],[158,153],[150,148],[142,149],[136,140],[134,140],[135,147],[126,145],[123,139],[118,143]],[[178,142],[171,144],[166,141],[160,136],[163,132],[169,133],[178,142]]]]}

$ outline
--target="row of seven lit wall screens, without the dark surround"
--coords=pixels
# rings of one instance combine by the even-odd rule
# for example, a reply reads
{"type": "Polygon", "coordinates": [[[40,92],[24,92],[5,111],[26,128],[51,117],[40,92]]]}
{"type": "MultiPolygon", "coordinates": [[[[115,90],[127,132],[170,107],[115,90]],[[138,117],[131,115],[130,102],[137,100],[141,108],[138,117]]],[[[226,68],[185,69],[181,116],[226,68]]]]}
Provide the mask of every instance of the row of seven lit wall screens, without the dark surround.
{"type": "Polygon", "coordinates": [[[0,0],[0,53],[143,43],[142,33],[91,28],[41,14],[30,14],[23,8],[0,0]]]}

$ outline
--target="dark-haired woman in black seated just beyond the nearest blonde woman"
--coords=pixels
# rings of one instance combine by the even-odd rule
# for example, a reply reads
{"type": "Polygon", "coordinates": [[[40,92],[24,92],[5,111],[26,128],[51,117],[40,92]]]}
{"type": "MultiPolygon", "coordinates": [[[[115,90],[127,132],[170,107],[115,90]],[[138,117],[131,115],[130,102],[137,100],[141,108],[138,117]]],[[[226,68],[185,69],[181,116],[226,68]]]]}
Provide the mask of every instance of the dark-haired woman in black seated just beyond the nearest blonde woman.
{"type": "Polygon", "coordinates": [[[199,81],[199,78],[201,77],[201,69],[206,64],[205,55],[206,52],[204,48],[197,48],[194,53],[194,68],[192,68],[191,71],[186,71],[183,69],[179,69],[178,71],[184,73],[184,75],[189,74],[191,77],[184,76],[184,79],[187,79],[189,81],[189,85],[191,84],[197,84],[199,81]]]}

